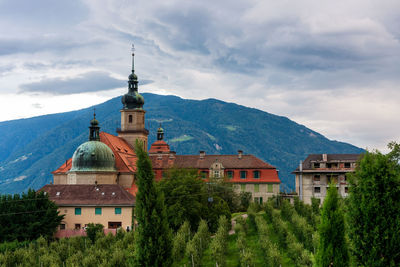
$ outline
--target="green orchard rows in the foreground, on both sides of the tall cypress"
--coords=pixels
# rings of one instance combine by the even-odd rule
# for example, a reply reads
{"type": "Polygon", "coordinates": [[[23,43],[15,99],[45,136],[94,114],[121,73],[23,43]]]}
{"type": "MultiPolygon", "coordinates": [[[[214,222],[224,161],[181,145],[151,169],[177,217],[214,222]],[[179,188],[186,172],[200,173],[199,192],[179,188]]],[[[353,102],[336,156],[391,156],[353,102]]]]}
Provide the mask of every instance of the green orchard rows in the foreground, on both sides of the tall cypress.
{"type": "MultiPolygon", "coordinates": [[[[188,224],[183,224],[186,230],[179,230],[173,241],[173,266],[211,267],[216,262],[218,266],[312,266],[318,215],[301,202],[293,206],[277,200],[264,207],[252,206],[247,218],[237,214],[235,233],[231,235],[230,223],[224,217],[213,236],[206,223],[200,222],[198,230],[192,233],[188,224]],[[186,233],[181,242],[180,232],[186,233]]],[[[134,244],[134,232],[123,230],[116,236],[98,233],[94,243],[87,237],[50,243],[44,238],[29,244],[3,243],[0,265],[132,266],[134,244]]]]}

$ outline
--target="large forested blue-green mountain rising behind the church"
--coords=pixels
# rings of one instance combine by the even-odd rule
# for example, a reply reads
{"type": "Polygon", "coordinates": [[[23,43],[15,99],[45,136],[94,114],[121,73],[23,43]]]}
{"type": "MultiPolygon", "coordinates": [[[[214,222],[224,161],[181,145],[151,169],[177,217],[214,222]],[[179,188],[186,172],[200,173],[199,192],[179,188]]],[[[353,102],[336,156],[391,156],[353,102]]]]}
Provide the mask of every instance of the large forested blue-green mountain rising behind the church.
{"type": "MultiPolygon", "coordinates": [[[[283,189],[294,189],[290,174],[310,153],[361,153],[286,117],[216,99],[187,100],[143,94],[149,144],[160,123],[165,141],[178,154],[253,154],[279,169],[283,189]]],[[[94,106],[101,131],[116,134],[120,97],[94,106]]],[[[29,119],[0,122],[0,193],[38,189],[88,140],[93,107],[29,119]]]]}

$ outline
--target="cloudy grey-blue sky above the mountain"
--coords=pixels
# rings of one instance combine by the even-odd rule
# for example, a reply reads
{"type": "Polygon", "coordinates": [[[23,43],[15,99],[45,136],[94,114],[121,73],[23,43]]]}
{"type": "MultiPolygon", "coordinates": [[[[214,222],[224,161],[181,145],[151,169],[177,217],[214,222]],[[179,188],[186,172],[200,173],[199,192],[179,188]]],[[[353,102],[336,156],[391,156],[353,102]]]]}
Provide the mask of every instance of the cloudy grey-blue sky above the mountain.
{"type": "Polygon", "coordinates": [[[0,0],[0,121],[126,91],[258,108],[330,139],[400,141],[400,1],[0,0]]]}

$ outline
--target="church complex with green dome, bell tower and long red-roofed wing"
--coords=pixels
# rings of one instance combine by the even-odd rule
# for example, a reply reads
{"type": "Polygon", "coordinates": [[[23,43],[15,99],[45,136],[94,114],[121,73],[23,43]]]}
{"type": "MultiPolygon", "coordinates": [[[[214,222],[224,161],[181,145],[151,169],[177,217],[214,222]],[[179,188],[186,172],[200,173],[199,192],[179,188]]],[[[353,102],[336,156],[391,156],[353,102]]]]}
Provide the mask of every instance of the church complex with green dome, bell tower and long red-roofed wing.
{"type": "MultiPolygon", "coordinates": [[[[100,132],[99,121],[94,114],[90,121],[89,140],[75,150],[71,159],[52,172],[53,184],[43,187],[56,204],[74,209],[74,212],[69,211],[67,214],[67,209],[60,208],[65,211],[61,214],[65,214],[65,220],[68,221],[62,226],[65,229],[79,229],[84,225],[85,220],[80,220],[82,222],[78,224],[74,219],[76,216],[84,217],[83,206],[91,207],[86,211],[89,213],[87,220],[91,220],[88,222],[101,221],[108,228],[126,228],[131,225],[131,222],[117,221],[118,216],[103,223],[103,220],[98,219],[101,216],[93,214],[101,215],[102,209],[105,209],[104,203],[106,207],[115,209],[113,216],[124,212],[122,206],[133,207],[135,203],[137,157],[134,146],[136,140],[140,140],[147,151],[149,131],[145,128],[144,98],[138,92],[138,77],[134,66],[132,52],[132,72],[128,79],[128,92],[121,99],[121,126],[117,129],[118,136],[100,132]],[[72,187],[74,190],[71,190],[72,187]],[[106,198],[107,201],[103,201],[106,198]],[[74,202],[74,199],[80,201],[74,202]]],[[[151,144],[148,153],[156,180],[161,180],[164,172],[172,167],[194,168],[198,169],[204,180],[226,179],[234,184],[236,191],[251,192],[253,200],[259,203],[279,193],[280,179],[274,166],[240,150],[236,155],[206,155],[205,151],[200,151],[198,155],[177,155],[164,141],[161,125],[157,130],[157,141],[151,144]]],[[[132,208],[130,209],[125,213],[132,216],[132,208]]]]}

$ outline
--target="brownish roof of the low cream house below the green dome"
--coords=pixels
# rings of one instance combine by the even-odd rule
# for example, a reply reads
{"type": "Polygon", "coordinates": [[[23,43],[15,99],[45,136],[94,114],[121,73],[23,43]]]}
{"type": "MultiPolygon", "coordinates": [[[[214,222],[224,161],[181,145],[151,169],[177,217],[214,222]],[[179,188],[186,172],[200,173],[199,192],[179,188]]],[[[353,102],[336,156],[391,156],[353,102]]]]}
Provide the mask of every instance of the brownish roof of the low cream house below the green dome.
{"type": "Polygon", "coordinates": [[[47,192],[58,206],[134,206],[136,198],[117,184],[47,184],[47,192]]]}

